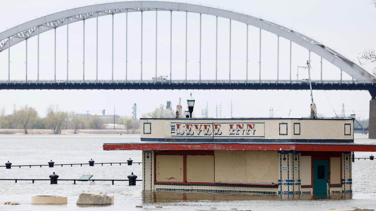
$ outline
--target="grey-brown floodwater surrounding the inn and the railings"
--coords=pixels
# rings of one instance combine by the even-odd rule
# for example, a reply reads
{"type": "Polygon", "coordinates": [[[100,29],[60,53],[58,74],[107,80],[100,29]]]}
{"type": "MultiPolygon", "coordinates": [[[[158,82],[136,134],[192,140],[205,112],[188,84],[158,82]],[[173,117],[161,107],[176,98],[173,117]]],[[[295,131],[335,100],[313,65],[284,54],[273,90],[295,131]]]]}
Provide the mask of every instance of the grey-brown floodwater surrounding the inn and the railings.
{"type": "MultiPolygon", "coordinates": [[[[368,135],[355,134],[356,143],[376,143],[368,135]]],[[[139,135],[1,135],[0,165],[8,160],[12,169],[0,167],[2,179],[49,179],[55,172],[59,179],[78,179],[82,175],[94,175],[93,179],[127,179],[133,172],[141,178],[141,165],[100,164],[89,166],[57,166],[56,164],[141,162],[141,151],[103,151],[103,143],[138,142],[139,135]],[[53,160],[55,167],[15,165],[47,164],[53,160]]],[[[375,152],[355,152],[355,157],[369,157],[375,152]]],[[[237,208],[238,210],[326,210],[344,209],[351,206],[376,209],[376,159],[355,160],[353,163],[353,193],[331,194],[331,196],[270,196],[243,193],[197,193],[182,191],[141,191],[141,183],[129,186],[128,181],[89,182],[59,181],[0,181],[0,203],[17,201],[21,205],[2,205],[0,210],[196,210],[216,207],[217,209],[237,208]],[[114,205],[77,206],[81,191],[102,192],[115,197],[114,205]],[[32,195],[68,196],[67,205],[32,205],[32,195]],[[143,208],[136,208],[142,205],[143,208]],[[162,206],[162,208],[156,208],[162,206]]]]}

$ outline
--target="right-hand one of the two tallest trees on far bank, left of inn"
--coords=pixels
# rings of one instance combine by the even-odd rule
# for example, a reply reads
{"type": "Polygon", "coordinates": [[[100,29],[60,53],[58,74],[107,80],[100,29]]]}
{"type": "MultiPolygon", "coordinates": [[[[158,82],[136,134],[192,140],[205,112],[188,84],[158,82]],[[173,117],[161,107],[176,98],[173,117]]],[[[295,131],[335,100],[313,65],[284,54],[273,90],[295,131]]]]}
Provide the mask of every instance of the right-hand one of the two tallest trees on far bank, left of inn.
{"type": "Polygon", "coordinates": [[[68,117],[67,112],[59,110],[58,105],[50,107],[47,109],[46,123],[53,130],[54,134],[61,134],[61,125],[66,121],[68,117]]]}

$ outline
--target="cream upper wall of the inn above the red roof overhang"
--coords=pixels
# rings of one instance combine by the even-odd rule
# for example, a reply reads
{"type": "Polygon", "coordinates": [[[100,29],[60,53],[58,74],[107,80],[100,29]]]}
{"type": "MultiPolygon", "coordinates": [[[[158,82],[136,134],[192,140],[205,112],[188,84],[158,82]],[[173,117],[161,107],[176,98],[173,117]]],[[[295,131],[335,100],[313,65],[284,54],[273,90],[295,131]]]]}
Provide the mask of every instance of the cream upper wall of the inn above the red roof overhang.
{"type": "Polygon", "coordinates": [[[200,142],[209,139],[353,142],[352,128],[350,119],[141,119],[141,140],[185,141],[189,137],[200,142]],[[250,127],[252,130],[246,130],[250,127]]]}

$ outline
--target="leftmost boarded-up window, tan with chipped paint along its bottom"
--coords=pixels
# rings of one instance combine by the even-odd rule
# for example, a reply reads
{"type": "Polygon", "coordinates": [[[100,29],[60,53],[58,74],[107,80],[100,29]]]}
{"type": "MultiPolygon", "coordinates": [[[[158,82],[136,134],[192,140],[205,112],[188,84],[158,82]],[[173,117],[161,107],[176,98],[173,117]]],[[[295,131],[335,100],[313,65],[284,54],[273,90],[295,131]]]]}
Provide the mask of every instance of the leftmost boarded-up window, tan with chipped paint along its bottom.
{"type": "Polygon", "coordinates": [[[183,182],[183,155],[156,155],[157,182],[183,182]]]}

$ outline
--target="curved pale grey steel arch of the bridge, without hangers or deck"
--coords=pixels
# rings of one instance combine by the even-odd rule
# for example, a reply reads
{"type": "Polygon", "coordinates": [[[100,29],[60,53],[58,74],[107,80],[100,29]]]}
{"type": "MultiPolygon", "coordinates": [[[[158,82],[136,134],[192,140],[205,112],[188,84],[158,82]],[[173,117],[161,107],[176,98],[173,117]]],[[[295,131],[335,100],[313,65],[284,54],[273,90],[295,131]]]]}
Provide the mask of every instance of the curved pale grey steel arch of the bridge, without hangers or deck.
{"type": "Polygon", "coordinates": [[[274,33],[275,35],[288,39],[306,48],[307,50],[314,52],[315,54],[331,62],[359,82],[372,83],[372,80],[375,79],[370,73],[368,73],[363,68],[356,65],[343,55],[339,54],[338,52],[321,44],[320,42],[315,41],[312,38],[288,29],[287,27],[238,12],[232,12],[208,6],[176,2],[115,2],[84,6],[57,12],[55,14],[28,21],[4,32],[1,32],[0,52],[12,45],[17,44],[18,42],[38,35],[38,33],[42,33],[59,26],[64,26],[68,23],[74,23],[76,21],[94,18],[97,16],[137,11],[186,11],[206,15],[214,15],[217,17],[239,21],[241,23],[255,26],[262,30],[274,33]]]}

